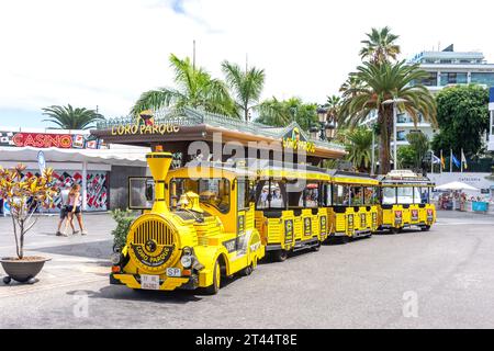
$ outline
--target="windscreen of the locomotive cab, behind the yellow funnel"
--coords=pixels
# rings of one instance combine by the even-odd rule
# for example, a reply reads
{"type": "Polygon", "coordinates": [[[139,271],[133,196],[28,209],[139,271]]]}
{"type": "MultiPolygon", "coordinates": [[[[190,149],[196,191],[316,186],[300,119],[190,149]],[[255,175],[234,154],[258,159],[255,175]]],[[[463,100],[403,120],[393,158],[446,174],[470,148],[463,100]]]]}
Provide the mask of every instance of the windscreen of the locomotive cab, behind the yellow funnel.
{"type": "MultiPolygon", "coordinates": [[[[189,191],[199,194],[199,201],[217,208],[221,213],[229,211],[229,181],[222,179],[173,179],[176,182],[176,199],[189,191]]],[[[173,195],[172,195],[173,196],[173,195]]]]}

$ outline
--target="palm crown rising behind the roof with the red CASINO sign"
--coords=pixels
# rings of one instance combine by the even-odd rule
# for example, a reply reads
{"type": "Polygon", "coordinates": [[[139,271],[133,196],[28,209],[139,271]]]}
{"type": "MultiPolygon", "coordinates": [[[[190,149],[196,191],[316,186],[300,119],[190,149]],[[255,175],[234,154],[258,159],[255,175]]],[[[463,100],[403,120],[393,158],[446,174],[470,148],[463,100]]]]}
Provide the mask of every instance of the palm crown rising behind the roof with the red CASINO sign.
{"type": "Polygon", "coordinates": [[[74,109],[70,104],[67,106],[52,105],[42,110],[43,114],[49,117],[43,122],[56,124],[58,126],[56,129],[89,129],[94,126],[94,122],[104,120],[96,110],[74,109]]]}

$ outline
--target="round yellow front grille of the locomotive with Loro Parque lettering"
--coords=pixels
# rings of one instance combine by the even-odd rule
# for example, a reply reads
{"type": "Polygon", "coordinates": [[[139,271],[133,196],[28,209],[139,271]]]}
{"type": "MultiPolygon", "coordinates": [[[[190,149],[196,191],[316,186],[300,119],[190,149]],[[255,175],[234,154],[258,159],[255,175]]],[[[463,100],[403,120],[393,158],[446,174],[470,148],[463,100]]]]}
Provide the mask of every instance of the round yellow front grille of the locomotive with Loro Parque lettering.
{"type": "Polygon", "coordinates": [[[177,260],[179,237],[162,217],[145,215],[131,227],[128,246],[131,258],[137,267],[156,273],[177,260]]]}

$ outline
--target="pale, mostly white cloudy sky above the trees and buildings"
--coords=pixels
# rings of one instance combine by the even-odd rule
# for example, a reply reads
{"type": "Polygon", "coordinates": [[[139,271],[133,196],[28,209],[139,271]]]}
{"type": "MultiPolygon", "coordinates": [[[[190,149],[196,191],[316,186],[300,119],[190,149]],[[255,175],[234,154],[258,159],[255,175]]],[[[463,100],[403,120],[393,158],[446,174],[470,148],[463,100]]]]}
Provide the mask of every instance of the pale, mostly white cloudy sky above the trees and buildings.
{"type": "Polygon", "coordinates": [[[324,103],[359,65],[371,27],[400,35],[402,58],[480,50],[494,63],[492,0],[0,0],[0,126],[43,127],[42,107],[127,115],[173,87],[169,55],[222,78],[224,59],[266,71],[262,99],[324,103]]]}

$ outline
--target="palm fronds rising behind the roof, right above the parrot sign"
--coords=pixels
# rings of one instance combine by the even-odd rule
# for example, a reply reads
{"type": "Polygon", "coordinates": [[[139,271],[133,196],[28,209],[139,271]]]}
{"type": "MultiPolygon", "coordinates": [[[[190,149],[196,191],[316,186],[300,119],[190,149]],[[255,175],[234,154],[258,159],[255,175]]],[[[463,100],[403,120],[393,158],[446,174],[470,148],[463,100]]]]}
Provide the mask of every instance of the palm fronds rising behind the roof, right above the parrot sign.
{"type": "Polygon", "coordinates": [[[203,68],[195,68],[190,58],[180,59],[171,54],[170,67],[175,71],[177,88],[159,88],[142,93],[131,110],[133,115],[164,106],[171,106],[176,112],[191,106],[212,113],[236,115],[234,101],[223,81],[213,79],[203,68]]]}

